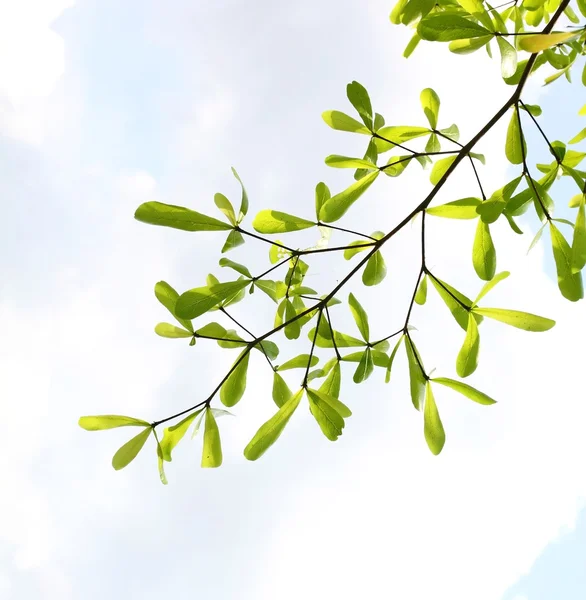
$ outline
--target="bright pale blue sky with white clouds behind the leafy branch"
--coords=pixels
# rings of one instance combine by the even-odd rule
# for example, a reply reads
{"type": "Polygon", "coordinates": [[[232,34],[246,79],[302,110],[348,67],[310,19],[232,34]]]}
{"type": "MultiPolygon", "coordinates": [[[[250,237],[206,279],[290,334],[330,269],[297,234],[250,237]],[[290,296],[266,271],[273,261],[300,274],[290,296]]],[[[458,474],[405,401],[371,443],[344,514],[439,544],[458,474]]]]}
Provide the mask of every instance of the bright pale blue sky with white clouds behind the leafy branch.
{"type": "MultiPolygon", "coordinates": [[[[140,224],[140,203],[218,216],[215,192],[238,199],[234,166],[251,198],[249,227],[264,208],[311,218],[318,181],[337,191],[349,182],[324,157],[364,150],[320,117],[350,110],[349,81],[364,84],[392,124],[424,124],[419,92],[434,88],[440,125],[457,122],[462,139],[508,97],[498,65],[480,53],[422,45],[403,59],[409,32],[389,23],[390,9],[382,0],[286,9],[266,0],[0,2],[2,597],[585,596],[586,408],[576,350],[586,319],[558,293],[547,245],[527,255],[534,221],[521,221],[523,236],[496,224],[498,270],[512,275],[490,304],[557,326],[531,334],[483,324],[470,382],[499,402],[482,407],[438,391],[447,432],[439,457],[425,445],[403,358],[388,386],[380,373],[360,386],[345,373],[342,400],[354,414],[335,444],[302,409],[249,463],[242,450],[274,412],[271,374],[254,357],[236,416],[219,421],[222,468],[200,469],[201,439],[185,440],[166,487],[153,447],[112,469],[128,430],[77,427],[85,414],[151,421],[182,410],[205,398],[235,357],[154,334],[167,320],[156,281],[183,291],[209,272],[228,275],[217,265],[223,236],[140,224]]],[[[581,128],[581,89],[540,83],[530,82],[526,98],[542,104],[553,137],[568,139],[581,128]]],[[[500,123],[479,147],[491,191],[514,176],[505,129],[500,123]]],[[[438,201],[476,193],[463,167],[438,201]]],[[[377,181],[340,224],[390,230],[430,189],[418,169],[377,181]]],[[[571,193],[558,193],[564,207],[571,193]]],[[[475,295],[473,227],[430,218],[428,232],[432,270],[475,295]]],[[[309,245],[312,236],[300,239],[309,245]]],[[[417,249],[417,228],[405,228],[385,246],[384,293],[350,288],[380,337],[404,319],[417,249]]],[[[253,272],[268,268],[260,243],[230,257],[253,272]]],[[[326,291],[347,269],[340,257],[316,257],[306,281],[326,291]]],[[[256,294],[234,314],[258,334],[272,310],[256,294]]],[[[355,334],[349,311],[336,310],[339,329],[355,334]]],[[[463,334],[431,292],[413,323],[426,366],[454,376],[463,334]]],[[[307,351],[303,339],[283,341],[284,358],[307,351]]]]}

